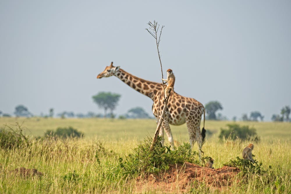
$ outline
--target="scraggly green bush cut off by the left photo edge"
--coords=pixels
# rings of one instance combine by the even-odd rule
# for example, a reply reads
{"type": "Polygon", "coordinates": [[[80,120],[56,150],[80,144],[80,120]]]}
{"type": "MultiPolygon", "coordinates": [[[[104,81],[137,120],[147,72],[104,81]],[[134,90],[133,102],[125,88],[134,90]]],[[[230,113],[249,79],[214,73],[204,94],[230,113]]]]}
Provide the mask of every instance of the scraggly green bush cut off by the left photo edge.
{"type": "Polygon", "coordinates": [[[23,128],[16,123],[15,129],[4,125],[0,129],[0,147],[12,149],[14,147],[23,147],[30,145],[29,139],[23,134],[23,128]]]}

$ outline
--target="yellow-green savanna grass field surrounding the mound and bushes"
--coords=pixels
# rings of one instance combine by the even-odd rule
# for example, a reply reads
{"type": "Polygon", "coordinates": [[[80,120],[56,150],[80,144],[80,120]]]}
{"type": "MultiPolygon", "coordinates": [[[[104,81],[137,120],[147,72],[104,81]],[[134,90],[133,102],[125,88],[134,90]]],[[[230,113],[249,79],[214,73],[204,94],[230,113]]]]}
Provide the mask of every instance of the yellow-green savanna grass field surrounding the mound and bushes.
{"type": "MultiPolygon", "coordinates": [[[[156,189],[137,191],[136,179],[123,174],[109,175],[120,157],[125,158],[140,141],[152,137],[154,119],[103,118],[0,118],[0,126],[16,129],[31,140],[28,147],[1,148],[0,193],[164,193],[156,189]],[[7,127],[6,126],[6,127],[7,127]],[[84,134],[74,139],[43,139],[47,130],[73,127],[84,134]],[[98,157],[96,157],[96,151],[98,157]],[[41,177],[21,177],[14,169],[37,169],[41,177]]],[[[219,140],[221,128],[232,121],[206,120],[204,154],[214,159],[214,168],[237,156],[249,143],[254,144],[254,159],[262,162],[265,174],[236,177],[236,181],[221,190],[198,183],[192,193],[291,193],[291,122],[236,122],[256,129],[259,142],[219,140]],[[244,181],[242,181],[244,179],[244,181]]],[[[188,142],[185,124],[171,126],[174,139],[188,142]]],[[[165,144],[168,144],[166,135],[165,144]]],[[[195,143],[194,151],[198,151],[195,143]]],[[[190,191],[189,191],[190,192],[190,191]]],[[[173,190],[179,193],[179,190],[173,190]]]]}

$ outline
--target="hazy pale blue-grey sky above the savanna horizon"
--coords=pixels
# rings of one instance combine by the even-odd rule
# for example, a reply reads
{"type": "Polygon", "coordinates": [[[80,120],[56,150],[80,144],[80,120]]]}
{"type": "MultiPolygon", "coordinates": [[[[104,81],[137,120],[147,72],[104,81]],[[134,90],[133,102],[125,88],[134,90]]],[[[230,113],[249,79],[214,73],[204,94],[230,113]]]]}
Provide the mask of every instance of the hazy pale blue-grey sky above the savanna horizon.
{"type": "Polygon", "coordinates": [[[23,104],[35,115],[103,113],[100,91],[122,95],[117,114],[150,98],[116,77],[120,66],[160,82],[148,21],[165,27],[160,51],[175,91],[218,100],[231,119],[260,111],[265,120],[291,105],[291,1],[0,1],[0,110],[23,104]]]}

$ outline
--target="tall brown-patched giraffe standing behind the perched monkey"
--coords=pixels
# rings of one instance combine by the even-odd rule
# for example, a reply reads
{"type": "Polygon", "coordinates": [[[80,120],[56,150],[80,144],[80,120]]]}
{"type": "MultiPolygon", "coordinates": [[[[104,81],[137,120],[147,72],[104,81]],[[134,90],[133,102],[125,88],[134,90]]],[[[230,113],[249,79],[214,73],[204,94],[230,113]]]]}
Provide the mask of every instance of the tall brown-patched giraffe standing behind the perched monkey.
{"type": "MultiPolygon", "coordinates": [[[[110,66],[106,66],[103,72],[97,75],[97,79],[110,76],[118,77],[121,81],[126,83],[134,90],[150,97],[150,99],[153,101],[152,113],[155,115],[155,118],[158,119],[158,115],[162,114],[162,109],[164,108],[164,89],[162,83],[147,81],[136,77],[121,69],[120,66],[113,66],[113,62],[111,62],[110,66]]],[[[166,87],[166,85],[164,85],[164,87],[166,87]]],[[[171,92],[174,91],[172,90],[171,92]]],[[[166,109],[164,121],[162,122],[159,135],[164,136],[165,131],[168,137],[168,141],[172,146],[174,146],[173,136],[169,124],[181,125],[186,123],[191,149],[193,148],[194,143],[197,141],[199,151],[202,152],[201,147],[204,143],[206,132],[204,129],[205,108],[203,104],[193,98],[184,97],[177,94],[176,92],[174,92],[174,94],[175,109],[172,100],[173,95],[170,94],[167,105],[168,108],[166,109]],[[200,133],[200,122],[202,119],[202,114],[204,114],[204,122],[202,132],[200,133]]],[[[163,143],[164,141],[162,141],[162,145],[163,143]]]]}

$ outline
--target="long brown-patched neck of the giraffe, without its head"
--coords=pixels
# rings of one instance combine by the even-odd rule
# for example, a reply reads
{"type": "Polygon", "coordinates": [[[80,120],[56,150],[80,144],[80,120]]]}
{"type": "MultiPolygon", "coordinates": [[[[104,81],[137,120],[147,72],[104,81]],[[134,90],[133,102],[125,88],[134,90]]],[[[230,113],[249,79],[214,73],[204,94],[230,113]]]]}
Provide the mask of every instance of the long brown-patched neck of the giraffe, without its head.
{"type": "Polygon", "coordinates": [[[141,79],[124,71],[123,69],[119,69],[115,76],[134,90],[150,97],[152,100],[155,98],[157,92],[163,88],[162,83],[141,79]]]}

